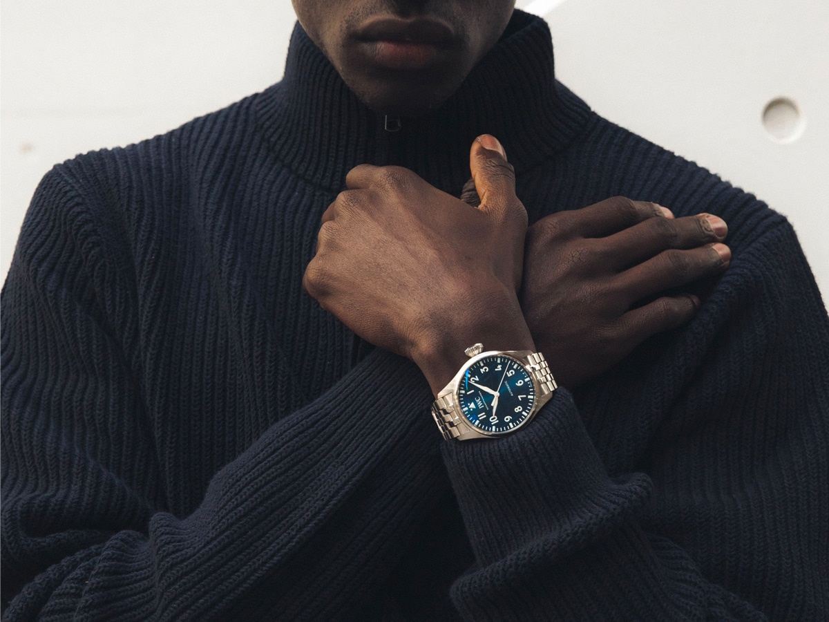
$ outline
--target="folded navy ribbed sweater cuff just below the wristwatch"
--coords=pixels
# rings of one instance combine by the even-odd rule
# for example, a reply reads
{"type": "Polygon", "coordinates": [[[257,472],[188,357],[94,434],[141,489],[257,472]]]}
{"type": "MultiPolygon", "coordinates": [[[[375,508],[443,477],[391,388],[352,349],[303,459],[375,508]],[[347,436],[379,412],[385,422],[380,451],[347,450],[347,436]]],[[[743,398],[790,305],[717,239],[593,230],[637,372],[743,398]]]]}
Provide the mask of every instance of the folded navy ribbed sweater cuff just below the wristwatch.
{"type": "Polygon", "coordinates": [[[643,474],[610,478],[565,389],[516,434],[447,441],[443,454],[480,566],[541,540],[559,554],[584,546],[651,488],[643,474]]]}

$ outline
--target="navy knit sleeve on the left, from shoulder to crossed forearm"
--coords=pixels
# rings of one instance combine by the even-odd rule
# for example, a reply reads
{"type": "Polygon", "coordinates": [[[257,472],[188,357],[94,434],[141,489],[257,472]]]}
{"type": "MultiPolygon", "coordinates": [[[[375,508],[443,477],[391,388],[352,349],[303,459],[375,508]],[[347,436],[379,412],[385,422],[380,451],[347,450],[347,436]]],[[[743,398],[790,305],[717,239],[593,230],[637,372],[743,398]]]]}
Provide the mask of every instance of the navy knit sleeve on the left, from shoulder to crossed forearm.
{"type": "Polygon", "coordinates": [[[331,619],[375,597],[443,470],[417,368],[371,353],[173,515],[69,186],[41,182],[2,291],[3,619],[331,619]]]}

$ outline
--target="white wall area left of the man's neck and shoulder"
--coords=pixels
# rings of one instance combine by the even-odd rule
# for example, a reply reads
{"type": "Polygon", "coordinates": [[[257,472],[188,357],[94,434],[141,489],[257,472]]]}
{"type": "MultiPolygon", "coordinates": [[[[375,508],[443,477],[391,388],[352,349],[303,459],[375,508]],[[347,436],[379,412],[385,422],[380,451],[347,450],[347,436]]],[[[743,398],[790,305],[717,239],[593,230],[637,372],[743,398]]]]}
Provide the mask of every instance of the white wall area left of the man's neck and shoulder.
{"type": "Polygon", "coordinates": [[[0,279],[53,164],[134,143],[282,76],[288,0],[0,0],[0,279]]]}

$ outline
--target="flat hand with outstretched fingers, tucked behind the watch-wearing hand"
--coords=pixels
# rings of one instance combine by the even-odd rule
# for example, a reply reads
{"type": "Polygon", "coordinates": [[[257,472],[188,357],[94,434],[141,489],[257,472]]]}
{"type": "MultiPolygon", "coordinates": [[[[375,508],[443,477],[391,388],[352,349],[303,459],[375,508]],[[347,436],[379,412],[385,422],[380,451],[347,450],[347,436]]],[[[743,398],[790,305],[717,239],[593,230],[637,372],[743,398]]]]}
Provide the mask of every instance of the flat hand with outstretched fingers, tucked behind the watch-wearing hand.
{"type": "Polygon", "coordinates": [[[717,216],[675,219],[623,197],[531,226],[521,307],[556,381],[579,386],[645,339],[690,321],[700,305],[695,295],[653,298],[725,270],[726,233],[717,216]]]}

